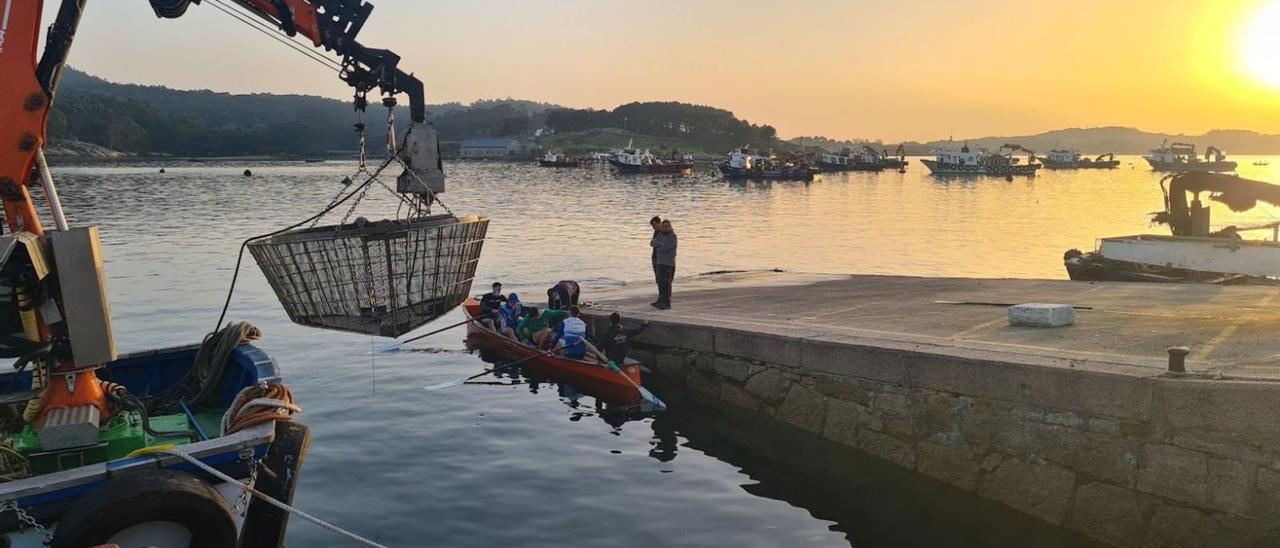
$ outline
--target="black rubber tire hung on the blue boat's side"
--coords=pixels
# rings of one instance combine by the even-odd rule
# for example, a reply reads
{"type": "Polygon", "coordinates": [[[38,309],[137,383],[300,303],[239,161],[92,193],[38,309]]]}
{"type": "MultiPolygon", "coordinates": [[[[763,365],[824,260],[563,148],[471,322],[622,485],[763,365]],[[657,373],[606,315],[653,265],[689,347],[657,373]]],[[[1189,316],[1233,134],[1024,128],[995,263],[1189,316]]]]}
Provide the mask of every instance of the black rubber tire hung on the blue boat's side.
{"type": "Polygon", "coordinates": [[[108,480],[67,511],[51,545],[105,544],[111,535],[147,521],[173,521],[187,528],[192,548],[236,545],[236,520],[227,499],[212,485],[170,470],[108,480]]]}

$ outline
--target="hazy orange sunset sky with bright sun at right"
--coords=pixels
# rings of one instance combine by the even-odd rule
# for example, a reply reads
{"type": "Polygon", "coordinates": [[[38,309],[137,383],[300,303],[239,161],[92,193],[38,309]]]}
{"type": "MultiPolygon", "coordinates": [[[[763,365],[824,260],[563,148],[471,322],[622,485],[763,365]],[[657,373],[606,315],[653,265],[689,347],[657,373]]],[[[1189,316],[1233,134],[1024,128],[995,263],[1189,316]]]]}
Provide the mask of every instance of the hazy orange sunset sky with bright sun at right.
{"type": "MultiPolygon", "coordinates": [[[[46,1],[46,22],[56,1],[46,1]]],[[[1280,0],[372,0],[360,40],[429,102],[673,100],[782,137],[928,141],[1128,125],[1280,133],[1280,0]]],[[[90,1],[70,63],[115,82],[344,99],[207,0],[90,1]]]]}

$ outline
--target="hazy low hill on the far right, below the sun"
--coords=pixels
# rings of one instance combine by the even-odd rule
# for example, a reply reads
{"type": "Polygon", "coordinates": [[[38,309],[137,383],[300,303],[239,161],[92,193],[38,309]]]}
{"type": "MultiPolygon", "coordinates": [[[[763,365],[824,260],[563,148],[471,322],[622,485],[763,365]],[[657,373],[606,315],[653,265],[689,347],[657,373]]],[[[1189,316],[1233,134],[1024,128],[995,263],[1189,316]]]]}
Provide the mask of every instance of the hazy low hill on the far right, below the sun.
{"type": "MultiPolygon", "coordinates": [[[[1189,142],[1196,145],[1201,151],[1208,146],[1216,146],[1228,154],[1280,154],[1280,136],[1245,129],[1213,129],[1204,134],[1189,136],[1181,133],[1151,133],[1119,127],[1071,128],[1034,136],[955,140],[951,145],[968,142],[970,146],[998,149],[1001,145],[1014,143],[1037,152],[1047,152],[1052,149],[1075,149],[1084,154],[1146,154],[1148,150],[1158,147],[1166,140],[1169,142],[1189,142]]],[[[934,149],[947,146],[947,141],[927,143],[909,142],[905,145],[905,149],[908,154],[924,155],[934,149]]]]}

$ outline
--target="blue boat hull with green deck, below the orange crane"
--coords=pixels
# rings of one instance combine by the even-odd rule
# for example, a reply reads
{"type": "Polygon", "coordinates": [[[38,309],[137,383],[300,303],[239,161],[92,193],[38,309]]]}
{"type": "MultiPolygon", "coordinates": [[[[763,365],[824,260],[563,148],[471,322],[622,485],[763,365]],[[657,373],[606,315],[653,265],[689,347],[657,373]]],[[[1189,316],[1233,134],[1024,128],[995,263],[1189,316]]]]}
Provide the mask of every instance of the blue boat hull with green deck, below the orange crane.
{"type": "MultiPolygon", "coordinates": [[[[189,474],[195,466],[189,460],[288,503],[310,431],[288,415],[273,416],[274,410],[260,415],[256,424],[255,419],[243,421],[242,428],[224,423],[229,408],[237,403],[243,408],[246,401],[237,399],[244,391],[252,393],[262,384],[279,387],[262,397],[287,393],[279,366],[252,344],[233,347],[229,355],[209,361],[218,366],[218,382],[206,387],[207,398],[177,398],[187,393],[183,385],[197,355],[209,351],[188,346],[140,352],[99,369],[108,399],[118,407],[104,420],[101,431],[88,433],[93,437],[88,446],[49,448],[54,437],[47,425],[52,420],[41,429],[26,425],[13,431],[9,426],[13,451],[5,452],[3,474],[28,478],[0,484],[0,499],[12,501],[10,510],[20,508],[0,515],[0,529],[56,525],[54,545],[90,545],[100,539],[122,545],[147,539],[148,545],[168,545],[163,539],[174,536],[147,529],[165,521],[179,529],[179,538],[186,530],[215,544],[227,543],[223,545],[280,545],[288,513],[253,498],[237,531],[229,504],[241,489],[221,479],[197,480],[189,474]],[[259,475],[259,466],[270,474],[259,475]]],[[[31,370],[5,373],[0,375],[0,398],[23,402],[33,396],[33,382],[40,385],[31,370]]],[[[46,539],[37,529],[10,534],[8,540],[6,545],[38,547],[46,539]]]]}

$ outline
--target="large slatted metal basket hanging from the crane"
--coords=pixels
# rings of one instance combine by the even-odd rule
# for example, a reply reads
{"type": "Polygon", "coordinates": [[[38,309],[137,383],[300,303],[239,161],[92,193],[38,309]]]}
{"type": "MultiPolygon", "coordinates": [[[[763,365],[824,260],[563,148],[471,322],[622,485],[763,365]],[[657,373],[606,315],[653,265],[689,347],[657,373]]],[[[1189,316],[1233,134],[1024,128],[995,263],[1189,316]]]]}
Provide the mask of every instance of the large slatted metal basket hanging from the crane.
{"type": "Polygon", "coordinates": [[[474,215],[357,222],[248,248],[294,323],[399,337],[467,298],[488,228],[474,215]]]}

